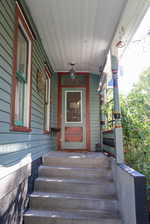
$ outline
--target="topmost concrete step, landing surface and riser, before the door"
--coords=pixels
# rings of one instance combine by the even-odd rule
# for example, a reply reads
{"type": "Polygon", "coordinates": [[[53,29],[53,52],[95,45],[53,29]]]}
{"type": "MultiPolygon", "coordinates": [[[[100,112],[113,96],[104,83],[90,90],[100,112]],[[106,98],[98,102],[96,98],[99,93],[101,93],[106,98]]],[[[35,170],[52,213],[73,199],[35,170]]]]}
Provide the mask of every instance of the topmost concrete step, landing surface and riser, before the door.
{"type": "Polygon", "coordinates": [[[43,157],[44,166],[110,168],[110,160],[101,153],[51,152],[43,157]]]}

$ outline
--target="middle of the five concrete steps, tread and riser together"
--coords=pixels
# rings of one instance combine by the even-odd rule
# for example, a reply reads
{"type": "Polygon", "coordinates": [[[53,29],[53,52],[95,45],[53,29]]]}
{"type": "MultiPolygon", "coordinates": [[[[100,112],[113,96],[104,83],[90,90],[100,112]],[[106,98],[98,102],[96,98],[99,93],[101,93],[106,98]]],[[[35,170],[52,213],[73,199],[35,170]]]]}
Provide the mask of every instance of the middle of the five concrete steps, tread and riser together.
{"type": "Polygon", "coordinates": [[[115,186],[112,181],[106,179],[90,181],[39,177],[35,181],[35,191],[89,194],[99,197],[102,195],[115,195],[115,186]]]}

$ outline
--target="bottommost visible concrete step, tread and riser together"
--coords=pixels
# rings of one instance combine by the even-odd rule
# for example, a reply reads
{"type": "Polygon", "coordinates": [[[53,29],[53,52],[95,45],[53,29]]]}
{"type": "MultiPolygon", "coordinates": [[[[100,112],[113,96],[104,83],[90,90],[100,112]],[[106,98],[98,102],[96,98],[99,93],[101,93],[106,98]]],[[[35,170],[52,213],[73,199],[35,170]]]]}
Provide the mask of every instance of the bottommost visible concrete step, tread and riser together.
{"type": "Polygon", "coordinates": [[[113,214],[108,217],[94,211],[43,211],[29,210],[24,215],[24,224],[122,224],[113,214]]]}

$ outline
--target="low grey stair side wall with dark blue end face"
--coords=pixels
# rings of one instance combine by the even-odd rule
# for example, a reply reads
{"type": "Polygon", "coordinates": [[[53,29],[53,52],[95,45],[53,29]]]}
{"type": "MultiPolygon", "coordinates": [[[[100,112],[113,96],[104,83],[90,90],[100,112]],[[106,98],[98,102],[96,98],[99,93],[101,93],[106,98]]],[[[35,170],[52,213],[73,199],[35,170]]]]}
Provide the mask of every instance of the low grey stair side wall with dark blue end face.
{"type": "Polygon", "coordinates": [[[124,224],[148,224],[146,178],[112,159],[113,177],[124,224]]]}

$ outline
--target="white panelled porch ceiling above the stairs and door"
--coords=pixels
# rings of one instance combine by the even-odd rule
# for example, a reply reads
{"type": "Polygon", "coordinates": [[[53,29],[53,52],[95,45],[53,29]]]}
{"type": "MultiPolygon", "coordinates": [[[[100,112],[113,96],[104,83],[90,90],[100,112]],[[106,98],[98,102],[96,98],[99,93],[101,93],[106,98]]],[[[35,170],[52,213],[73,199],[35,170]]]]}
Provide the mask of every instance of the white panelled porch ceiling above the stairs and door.
{"type": "Polygon", "coordinates": [[[26,0],[54,71],[98,72],[126,0],[26,0]]]}

